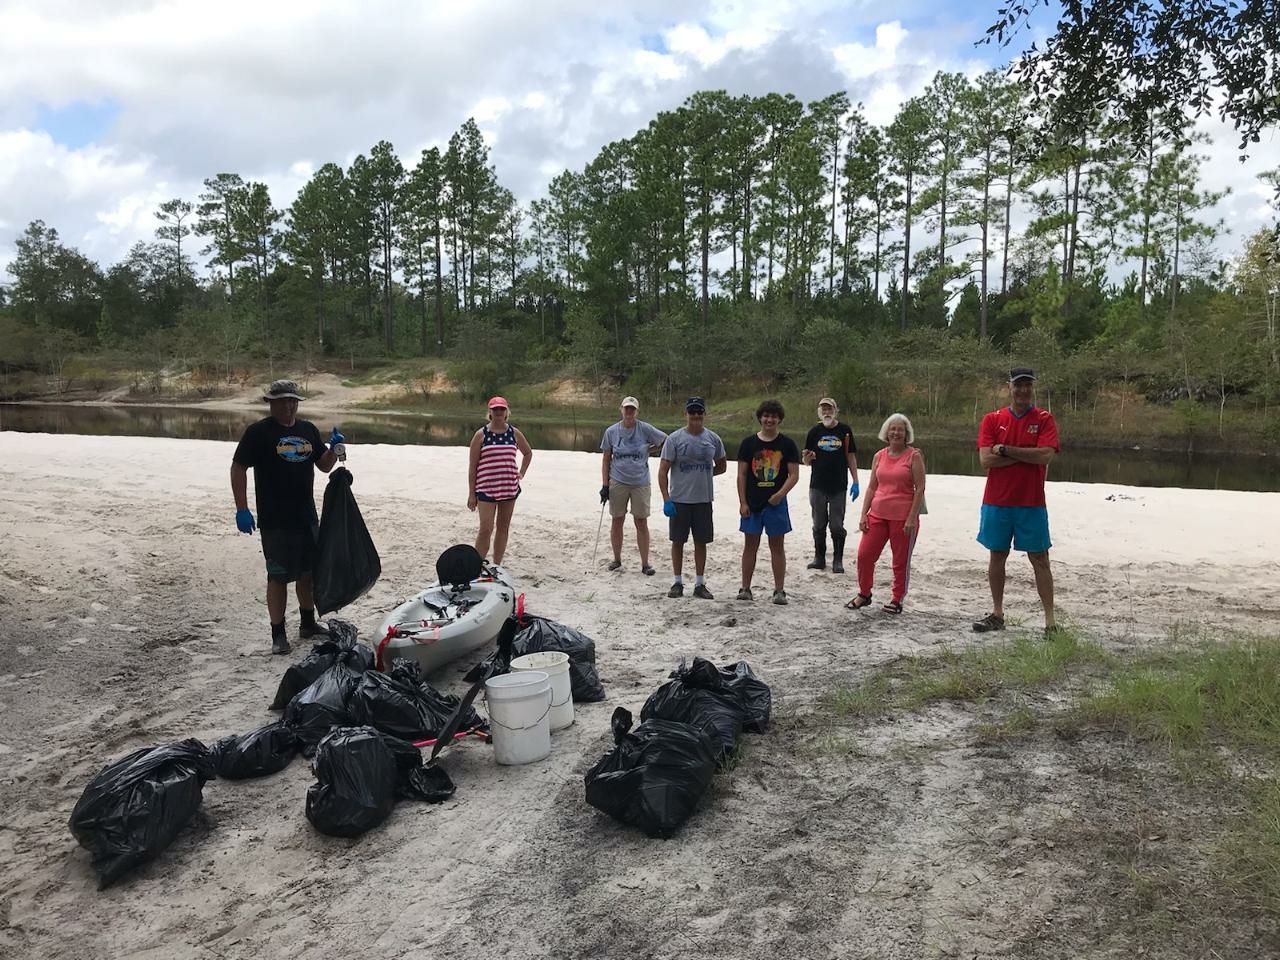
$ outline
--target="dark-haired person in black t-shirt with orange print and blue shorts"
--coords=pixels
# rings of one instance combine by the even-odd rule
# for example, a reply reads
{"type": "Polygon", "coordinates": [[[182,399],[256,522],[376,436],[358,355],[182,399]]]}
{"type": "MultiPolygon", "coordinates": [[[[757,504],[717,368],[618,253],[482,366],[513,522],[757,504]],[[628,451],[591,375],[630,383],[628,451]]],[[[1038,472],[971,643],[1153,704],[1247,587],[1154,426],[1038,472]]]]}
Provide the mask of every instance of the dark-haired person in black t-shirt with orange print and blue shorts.
{"type": "Polygon", "coordinates": [[[746,536],[742,541],[742,589],[737,591],[740,600],[751,599],[755,557],[760,534],[765,534],[773,567],[773,602],[787,602],[783,538],[791,532],[787,493],[800,480],[800,451],[795,440],[778,433],[785,416],[777,401],[762,402],[755,408],[759,431],[737,448],[737,512],[742,517],[737,529],[746,536]]]}

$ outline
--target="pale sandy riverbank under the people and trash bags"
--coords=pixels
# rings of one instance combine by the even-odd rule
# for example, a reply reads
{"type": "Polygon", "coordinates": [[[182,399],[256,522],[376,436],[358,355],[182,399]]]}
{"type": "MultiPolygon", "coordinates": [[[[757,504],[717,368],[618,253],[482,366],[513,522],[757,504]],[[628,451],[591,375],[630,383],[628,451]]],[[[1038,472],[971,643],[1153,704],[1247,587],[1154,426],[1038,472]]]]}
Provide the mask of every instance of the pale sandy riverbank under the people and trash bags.
{"type": "MultiPolygon", "coordinates": [[[[842,608],[856,536],[850,573],[804,568],[804,486],[791,495],[791,604],[732,599],[732,470],[717,479],[714,602],[667,599],[662,517],[657,576],[640,575],[630,524],[623,568],[605,572],[607,532],[593,563],[599,461],[545,451],[506,567],[532,612],[596,640],[608,691],[579,705],[548,760],[503,768],[484,744],[456,746],[443,759],[453,800],[401,804],[353,841],[307,823],[312,777],[301,759],[261,781],[212,781],[163,856],[99,892],[67,829],[84,783],[140,746],[212,744],[269,722],[280,673],[306,652],[298,643],[291,658],[268,654],[261,552],[236,532],[232,451],[0,434],[0,956],[986,957],[1032,955],[1021,945],[1043,936],[1046,916],[1059,934],[1087,931],[1073,895],[1080,872],[1018,844],[1046,810],[1088,805],[1061,776],[1065,754],[1016,758],[1034,788],[1010,800],[993,777],[1007,756],[963,742],[904,751],[931,724],[959,727],[954,710],[882,726],[855,754],[812,749],[833,685],[902,655],[989,641],[969,628],[989,603],[974,541],[980,479],[929,477],[906,613],[891,617],[878,603],[842,608]],[[698,654],[750,662],[773,687],[774,723],[745,740],[675,838],[648,840],[584,803],[582,773],[612,745],[614,707],[639,712],[698,654]],[[993,797],[1009,810],[984,814],[993,797]],[[1018,836],[995,836],[1015,822],[1018,836]]],[[[353,447],[348,466],[383,579],[338,616],[369,640],[434,579],[445,547],[474,538],[475,517],[462,448],[353,447]]],[[[1275,631],[1280,494],[1051,484],[1048,500],[1060,609],[1091,636],[1123,648],[1160,643],[1174,625],[1275,631]]],[[[887,559],[877,600],[887,599],[887,559]]],[[[1029,567],[1015,558],[1010,572],[1012,628],[1037,630],[1029,567]]],[[[768,582],[764,554],[756,582],[768,582]]],[[[470,666],[433,681],[461,692],[470,666]]]]}

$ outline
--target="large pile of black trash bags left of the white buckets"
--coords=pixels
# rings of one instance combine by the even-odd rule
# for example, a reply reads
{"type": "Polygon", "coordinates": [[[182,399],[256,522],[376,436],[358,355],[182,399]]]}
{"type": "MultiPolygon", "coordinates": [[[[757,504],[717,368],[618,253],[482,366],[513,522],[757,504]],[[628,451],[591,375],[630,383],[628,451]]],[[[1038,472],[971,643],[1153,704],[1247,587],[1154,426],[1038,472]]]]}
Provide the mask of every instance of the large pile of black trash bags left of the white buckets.
{"type": "MultiPolygon", "coordinates": [[[[216,777],[265,777],[302,753],[314,756],[307,819],[323,833],[360,836],[385,820],[397,800],[440,803],[449,776],[425,767],[415,742],[433,740],[460,707],[422,680],[417,663],[372,669],[374,652],[356,627],[329,621],[328,640],[292,664],[271,709],[280,721],[228,736],[212,749],[198,740],[145,748],[104,768],[72,810],[70,831],[86,847],[99,888],[159,855],[192,820],[204,786],[216,777]]],[[[470,707],[460,730],[484,731],[470,707]]]]}

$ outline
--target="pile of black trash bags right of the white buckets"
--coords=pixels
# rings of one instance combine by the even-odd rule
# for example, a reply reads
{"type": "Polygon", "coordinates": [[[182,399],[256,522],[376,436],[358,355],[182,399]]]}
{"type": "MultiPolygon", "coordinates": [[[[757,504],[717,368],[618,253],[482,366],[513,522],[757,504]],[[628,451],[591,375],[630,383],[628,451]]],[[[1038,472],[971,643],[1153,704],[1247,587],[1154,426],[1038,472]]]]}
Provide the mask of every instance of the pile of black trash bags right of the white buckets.
{"type": "Polygon", "coordinates": [[[689,819],[742,731],[769,726],[772,694],[745,662],[717,669],[701,657],[672,671],[640,709],[613,712],[614,748],[586,772],[586,801],[650,837],[689,819]]]}

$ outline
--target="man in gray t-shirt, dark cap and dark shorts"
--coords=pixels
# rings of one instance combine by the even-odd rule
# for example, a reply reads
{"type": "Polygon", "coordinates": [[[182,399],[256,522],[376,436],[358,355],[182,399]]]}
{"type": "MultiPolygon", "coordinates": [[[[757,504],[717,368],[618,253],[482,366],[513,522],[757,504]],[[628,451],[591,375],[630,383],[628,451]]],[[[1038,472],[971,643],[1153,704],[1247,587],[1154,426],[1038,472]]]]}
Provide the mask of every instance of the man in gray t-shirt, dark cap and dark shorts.
{"type": "Polygon", "coordinates": [[[728,468],[724,443],[703,424],[707,404],[701,397],[685,402],[685,428],[676,430],[662,444],[662,463],[658,467],[658,489],[662,492],[662,512],[671,524],[671,572],[675,581],[667,596],[685,595],[685,543],[694,535],[694,596],[713,600],[707,589],[707,544],[716,539],[712,524],[712,500],[716,498],[713,477],[728,468]]]}

